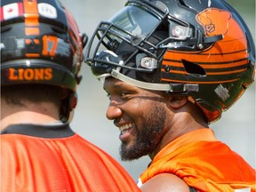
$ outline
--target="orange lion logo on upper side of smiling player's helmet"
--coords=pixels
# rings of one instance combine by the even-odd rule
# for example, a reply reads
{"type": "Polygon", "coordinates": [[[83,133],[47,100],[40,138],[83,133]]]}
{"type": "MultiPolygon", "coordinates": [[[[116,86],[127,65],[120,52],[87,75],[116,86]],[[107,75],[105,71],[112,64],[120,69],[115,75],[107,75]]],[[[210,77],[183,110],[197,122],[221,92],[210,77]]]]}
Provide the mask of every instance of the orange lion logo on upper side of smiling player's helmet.
{"type": "Polygon", "coordinates": [[[225,35],[228,33],[231,13],[225,10],[209,8],[196,15],[196,20],[203,26],[205,36],[225,35]]]}

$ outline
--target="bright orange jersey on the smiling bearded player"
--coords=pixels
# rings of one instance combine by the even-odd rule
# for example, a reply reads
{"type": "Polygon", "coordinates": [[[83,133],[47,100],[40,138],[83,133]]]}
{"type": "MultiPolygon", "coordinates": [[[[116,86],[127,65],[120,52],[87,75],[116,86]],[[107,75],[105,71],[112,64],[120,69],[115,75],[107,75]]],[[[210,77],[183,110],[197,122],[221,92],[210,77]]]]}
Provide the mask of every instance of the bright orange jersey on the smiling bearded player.
{"type": "Polygon", "coordinates": [[[140,182],[163,172],[177,175],[197,191],[253,192],[256,187],[255,170],[216,140],[210,129],[189,132],[169,143],[140,175],[140,182]]]}

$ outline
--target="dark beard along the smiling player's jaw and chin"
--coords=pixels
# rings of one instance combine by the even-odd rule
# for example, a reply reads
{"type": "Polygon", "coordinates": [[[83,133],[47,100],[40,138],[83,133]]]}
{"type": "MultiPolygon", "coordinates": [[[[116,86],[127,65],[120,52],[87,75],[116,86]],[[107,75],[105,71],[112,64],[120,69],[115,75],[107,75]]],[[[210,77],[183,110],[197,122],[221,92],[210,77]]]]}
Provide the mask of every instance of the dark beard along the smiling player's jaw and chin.
{"type": "Polygon", "coordinates": [[[151,113],[144,116],[143,124],[136,128],[136,135],[132,145],[121,144],[120,156],[123,161],[138,159],[153,152],[161,139],[164,130],[165,109],[162,105],[152,107],[151,113]]]}

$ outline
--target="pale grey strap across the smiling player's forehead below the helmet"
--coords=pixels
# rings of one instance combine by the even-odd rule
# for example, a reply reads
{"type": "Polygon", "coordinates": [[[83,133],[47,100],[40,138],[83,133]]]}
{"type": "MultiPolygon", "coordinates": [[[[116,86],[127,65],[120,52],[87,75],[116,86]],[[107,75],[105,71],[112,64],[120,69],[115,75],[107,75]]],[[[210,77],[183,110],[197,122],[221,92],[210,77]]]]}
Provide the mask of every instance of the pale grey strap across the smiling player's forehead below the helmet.
{"type": "Polygon", "coordinates": [[[151,84],[147,82],[141,82],[129,76],[124,76],[124,74],[118,71],[118,68],[112,69],[110,74],[103,74],[103,75],[97,76],[97,78],[102,80],[102,79],[105,79],[107,76],[113,76],[116,79],[119,79],[127,84],[132,84],[136,87],[140,87],[146,90],[164,91],[164,92],[173,92],[173,93],[198,92],[199,90],[198,84],[151,84]]]}

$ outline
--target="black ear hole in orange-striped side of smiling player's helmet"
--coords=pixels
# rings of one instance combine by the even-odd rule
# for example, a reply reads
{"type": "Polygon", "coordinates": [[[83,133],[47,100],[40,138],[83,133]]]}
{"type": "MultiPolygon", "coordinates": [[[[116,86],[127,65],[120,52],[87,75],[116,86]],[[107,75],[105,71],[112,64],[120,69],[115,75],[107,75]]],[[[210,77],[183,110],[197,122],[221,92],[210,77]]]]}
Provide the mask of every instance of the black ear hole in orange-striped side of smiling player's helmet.
{"type": "Polygon", "coordinates": [[[206,76],[206,72],[204,68],[202,68],[201,66],[188,60],[181,60],[181,61],[188,74],[192,76],[202,76],[202,77],[206,76]]]}

